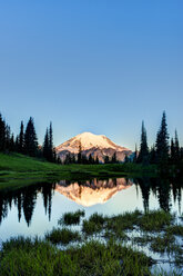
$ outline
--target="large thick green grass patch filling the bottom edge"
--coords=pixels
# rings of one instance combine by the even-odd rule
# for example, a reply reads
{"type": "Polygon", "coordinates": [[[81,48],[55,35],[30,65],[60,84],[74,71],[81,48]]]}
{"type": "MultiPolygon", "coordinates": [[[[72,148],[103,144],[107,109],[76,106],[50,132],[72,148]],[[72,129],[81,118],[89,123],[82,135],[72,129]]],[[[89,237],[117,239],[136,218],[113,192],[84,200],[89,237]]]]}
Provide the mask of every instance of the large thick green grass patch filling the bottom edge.
{"type": "Polygon", "coordinates": [[[112,240],[61,250],[45,240],[21,237],[4,243],[0,255],[1,276],[148,276],[152,264],[145,254],[112,240]]]}

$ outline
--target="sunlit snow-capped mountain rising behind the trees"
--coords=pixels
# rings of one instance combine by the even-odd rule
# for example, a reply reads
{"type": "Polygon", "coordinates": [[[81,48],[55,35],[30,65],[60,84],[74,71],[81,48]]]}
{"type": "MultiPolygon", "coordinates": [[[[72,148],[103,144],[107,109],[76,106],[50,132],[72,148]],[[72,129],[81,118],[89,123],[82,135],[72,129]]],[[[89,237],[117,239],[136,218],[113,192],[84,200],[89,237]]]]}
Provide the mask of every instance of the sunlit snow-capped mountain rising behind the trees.
{"type": "Polygon", "coordinates": [[[93,135],[91,132],[77,135],[75,137],[58,146],[55,150],[57,155],[64,160],[68,154],[77,156],[80,147],[82,155],[89,157],[91,154],[94,158],[98,156],[101,162],[103,162],[105,156],[111,158],[114,152],[116,154],[116,159],[120,161],[123,161],[126,155],[130,156],[132,154],[130,149],[118,146],[106,136],[93,135]]]}

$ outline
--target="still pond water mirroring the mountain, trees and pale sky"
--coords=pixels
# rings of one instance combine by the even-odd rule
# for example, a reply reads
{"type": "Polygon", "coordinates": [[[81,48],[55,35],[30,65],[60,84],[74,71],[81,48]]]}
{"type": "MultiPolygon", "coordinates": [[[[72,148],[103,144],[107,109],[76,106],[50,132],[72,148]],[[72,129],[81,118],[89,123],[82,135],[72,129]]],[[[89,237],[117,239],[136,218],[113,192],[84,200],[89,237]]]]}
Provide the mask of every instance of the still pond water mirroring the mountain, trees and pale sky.
{"type": "Polygon", "coordinates": [[[35,184],[0,191],[0,241],[12,236],[43,236],[67,211],[116,215],[162,208],[182,214],[183,184],[179,179],[116,178],[35,184]]]}

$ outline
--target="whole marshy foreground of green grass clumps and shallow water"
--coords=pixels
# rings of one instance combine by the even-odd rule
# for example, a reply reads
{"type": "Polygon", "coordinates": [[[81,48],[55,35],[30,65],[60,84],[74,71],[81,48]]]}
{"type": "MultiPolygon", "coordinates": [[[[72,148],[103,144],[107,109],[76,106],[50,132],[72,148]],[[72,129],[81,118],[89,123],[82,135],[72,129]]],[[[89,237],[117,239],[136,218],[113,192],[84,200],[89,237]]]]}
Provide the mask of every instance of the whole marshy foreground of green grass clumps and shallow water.
{"type": "Polygon", "coordinates": [[[80,220],[83,216],[81,211],[63,215],[58,228],[47,233],[43,239],[17,237],[3,243],[1,275],[182,275],[181,269],[175,269],[183,267],[183,249],[176,241],[183,237],[183,225],[176,224],[173,214],[135,210],[113,217],[93,214],[80,220]],[[81,231],[72,230],[72,224],[80,224],[81,231]],[[140,235],[132,236],[134,229],[140,235]],[[174,270],[152,269],[157,260],[139,250],[136,245],[166,254],[167,262],[174,263],[174,270]]]}

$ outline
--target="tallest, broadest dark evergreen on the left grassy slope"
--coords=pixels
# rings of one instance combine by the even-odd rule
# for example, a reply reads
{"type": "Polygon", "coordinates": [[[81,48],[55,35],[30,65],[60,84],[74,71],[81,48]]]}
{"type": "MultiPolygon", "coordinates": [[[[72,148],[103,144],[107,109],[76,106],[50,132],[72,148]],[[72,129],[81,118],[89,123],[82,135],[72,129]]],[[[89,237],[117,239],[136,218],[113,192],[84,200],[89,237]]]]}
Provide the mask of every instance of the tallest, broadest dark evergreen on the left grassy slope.
{"type": "Polygon", "coordinates": [[[24,134],[24,152],[29,156],[37,156],[38,154],[38,139],[32,117],[28,121],[24,134]]]}

